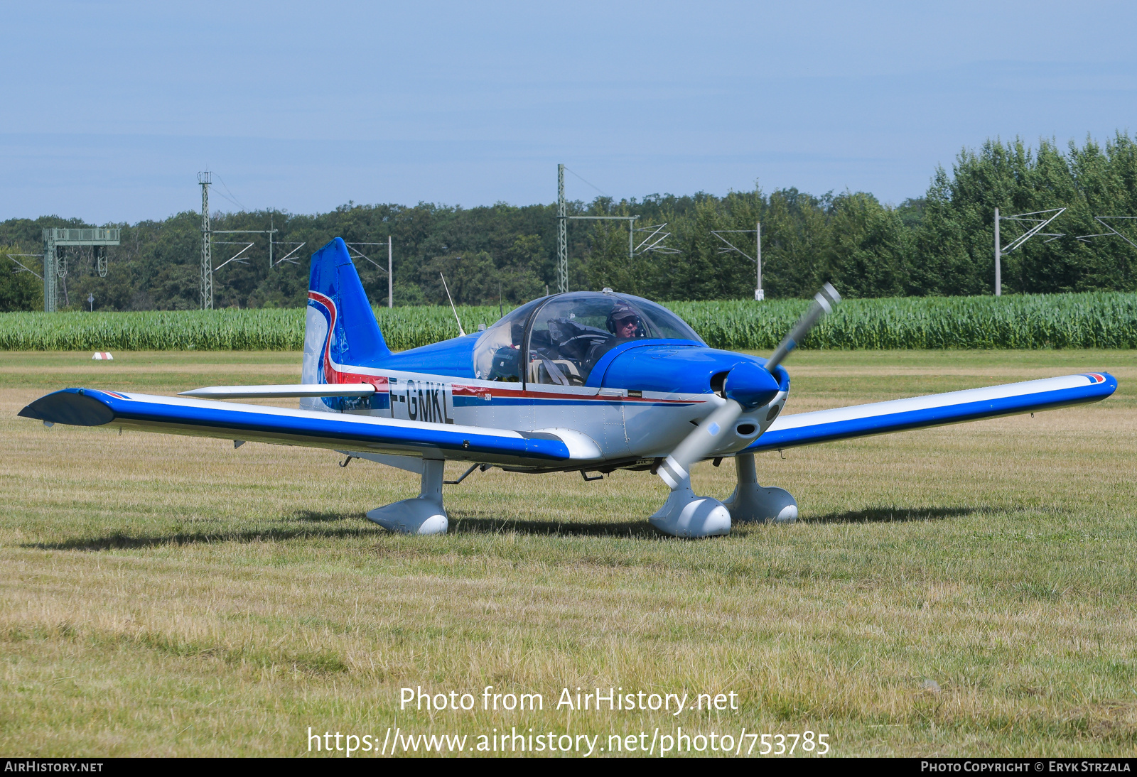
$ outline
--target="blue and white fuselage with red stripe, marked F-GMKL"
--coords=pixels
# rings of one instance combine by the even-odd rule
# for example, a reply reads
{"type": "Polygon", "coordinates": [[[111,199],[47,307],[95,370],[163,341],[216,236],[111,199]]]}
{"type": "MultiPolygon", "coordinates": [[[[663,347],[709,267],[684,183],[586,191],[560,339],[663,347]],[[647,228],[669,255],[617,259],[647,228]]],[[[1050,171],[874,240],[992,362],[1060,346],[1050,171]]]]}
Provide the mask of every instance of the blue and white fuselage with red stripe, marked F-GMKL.
{"type": "MultiPolygon", "coordinates": [[[[314,307],[319,319],[333,320],[334,310],[314,307]]],[[[309,318],[309,332],[319,324],[309,318]]],[[[306,374],[305,383],[370,383],[376,392],[364,399],[301,400],[301,408],[518,432],[573,431],[599,450],[595,469],[647,469],[725,401],[721,389],[727,373],[745,361],[764,364],[763,359],[712,349],[695,340],[639,339],[604,353],[583,385],[488,381],[475,377],[475,351],[479,340],[491,332],[358,365],[338,361],[330,337],[313,337],[323,352],[318,361],[310,358],[315,353],[307,354],[306,366],[318,365],[321,369],[316,375],[306,374]]],[[[780,368],[778,383],[779,391],[770,401],[744,412],[727,431],[715,454],[742,450],[774,420],[789,392],[789,376],[780,368]]],[[[517,467],[539,471],[564,468],[517,467]]],[[[570,468],[581,467],[573,463],[570,468]]]]}

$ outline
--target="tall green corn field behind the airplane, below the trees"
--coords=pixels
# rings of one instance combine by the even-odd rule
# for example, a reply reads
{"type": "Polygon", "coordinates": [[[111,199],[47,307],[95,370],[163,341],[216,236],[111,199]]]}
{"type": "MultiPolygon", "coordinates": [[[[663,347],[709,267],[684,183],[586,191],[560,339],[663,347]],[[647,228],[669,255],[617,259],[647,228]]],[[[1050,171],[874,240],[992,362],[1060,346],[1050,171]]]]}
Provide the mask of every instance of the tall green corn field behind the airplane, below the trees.
{"type": "MultiPolygon", "coordinates": [[[[770,350],[805,300],[673,302],[706,342],[770,350]]],[[[458,334],[449,308],[379,308],[395,350],[458,334]]],[[[496,307],[458,308],[467,332],[498,318],[496,307]]],[[[304,310],[0,314],[0,350],[258,351],[304,348],[304,310]]],[[[808,349],[1137,348],[1137,294],[894,298],[847,300],[802,343],[808,349]]]]}

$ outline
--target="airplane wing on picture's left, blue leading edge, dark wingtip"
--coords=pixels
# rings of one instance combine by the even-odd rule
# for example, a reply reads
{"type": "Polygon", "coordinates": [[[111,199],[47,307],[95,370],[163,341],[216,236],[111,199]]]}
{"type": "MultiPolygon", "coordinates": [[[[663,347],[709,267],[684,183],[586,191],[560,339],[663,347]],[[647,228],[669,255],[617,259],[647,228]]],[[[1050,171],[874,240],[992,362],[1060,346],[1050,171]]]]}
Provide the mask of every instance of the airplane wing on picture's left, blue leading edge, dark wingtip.
{"type": "Polygon", "coordinates": [[[35,400],[19,415],[49,425],[115,426],[514,466],[556,467],[603,458],[590,437],[571,429],[514,432],[93,389],[57,391],[35,400]]]}

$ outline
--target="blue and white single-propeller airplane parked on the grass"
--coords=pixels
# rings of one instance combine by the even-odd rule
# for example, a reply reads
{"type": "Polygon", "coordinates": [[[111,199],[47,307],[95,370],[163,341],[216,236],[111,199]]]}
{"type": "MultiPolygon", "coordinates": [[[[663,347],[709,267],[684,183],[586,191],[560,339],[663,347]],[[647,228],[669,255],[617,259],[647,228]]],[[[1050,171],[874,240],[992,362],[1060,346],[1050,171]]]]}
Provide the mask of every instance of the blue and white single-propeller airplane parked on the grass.
{"type": "Polygon", "coordinates": [[[1085,373],[780,416],[782,359],[839,299],[827,285],[770,359],[709,348],[666,308],[608,289],[542,296],[483,332],[392,353],[337,237],[312,257],[301,384],[213,386],[184,399],[65,389],[19,415],[325,448],[420,473],[417,498],[367,512],[404,533],[447,530],[448,460],[470,463],[454,483],[479,467],[586,478],[650,470],[671,488],[652,525],[705,537],[732,521],[797,519],[789,492],[758,485],[755,453],[1096,402],[1118,385],[1085,373]],[[221,401],[266,398],[299,398],[300,408],[221,401]],[[723,458],[735,459],[735,493],[696,495],[691,466],[723,458]]]}

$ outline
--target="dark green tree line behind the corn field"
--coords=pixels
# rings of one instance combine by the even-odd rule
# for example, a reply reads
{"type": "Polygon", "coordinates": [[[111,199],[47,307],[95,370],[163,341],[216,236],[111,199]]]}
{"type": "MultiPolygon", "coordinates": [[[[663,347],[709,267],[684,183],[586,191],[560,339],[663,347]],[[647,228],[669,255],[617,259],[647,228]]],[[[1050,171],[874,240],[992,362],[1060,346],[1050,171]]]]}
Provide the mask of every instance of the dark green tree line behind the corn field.
{"type": "MultiPolygon", "coordinates": [[[[570,289],[619,291],[658,300],[752,298],[755,287],[754,231],[761,223],[763,287],[770,298],[813,294],[825,281],[847,296],[989,294],[994,291],[994,209],[1004,216],[1067,208],[1047,227],[1060,237],[1036,237],[1003,259],[1004,293],[1131,291],[1137,249],[1106,232],[1095,216],[1137,216],[1137,140],[1117,133],[1104,144],[1087,139],[1061,149],[1040,141],[988,140],[964,149],[952,169],[938,167],[923,197],[894,206],[866,192],[814,195],[796,189],[699,192],[677,197],[568,204],[571,216],[637,217],[629,258],[629,226],[621,220],[568,223],[570,289]],[[666,225],[653,232],[658,225],[666,225]],[[715,231],[748,256],[730,250],[715,231]],[[652,236],[654,234],[654,236],[652,236]],[[646,250],[653,241],[655,250],[646,250]],[[1079,240],[1081,237],[1081,240],[1079,240]],[[644,242],[647,239],[647,242],[644,242]]],[[[1115,220],[1137,242],[1137,219],[1115,220]]],[[[42,287],[16,261],[36,271],[43,227],[94,226],[81,219],[41,217],[0,223],[0,310],[42,308],[42,287]]],[[[90,249],[67,249],[65,307],[151,310],[200,307],[200,215],[109,224],[122,244],[108,249],[106,277],[96,273],[90,249]]],[[[368,259],[356,267],[375,304],[387,304],[388,237],[393,247],[396,304],[445,304],[440,273],[455,302],[516,304],[556,291],[556,206],[462,208],[345,206],[315,216],[281,211],[218,212],[215,229],[276,228],[275,258],[299,247],[297,261],[269,268],[264,235],[214,274],[215,307],[299,307],[306,303],[308,257],[334,236],[359,244],[368,259]],[[364,245],[371,243],[371,245],[364,245]],[[301,245],[302,244],[302,245],[301,245]]],[[[1022,223],[1002,224],[1006,245],[1022,223]]],[[[226,235],[230,242],[244,242],[226,235]]],[[[222,240],[218,236],[218,241],[222,240]]],[[[215,244],[218,267],[240,244],[215,244]]]]}

